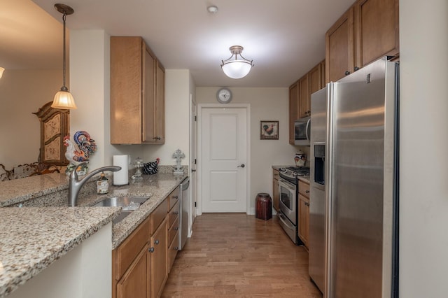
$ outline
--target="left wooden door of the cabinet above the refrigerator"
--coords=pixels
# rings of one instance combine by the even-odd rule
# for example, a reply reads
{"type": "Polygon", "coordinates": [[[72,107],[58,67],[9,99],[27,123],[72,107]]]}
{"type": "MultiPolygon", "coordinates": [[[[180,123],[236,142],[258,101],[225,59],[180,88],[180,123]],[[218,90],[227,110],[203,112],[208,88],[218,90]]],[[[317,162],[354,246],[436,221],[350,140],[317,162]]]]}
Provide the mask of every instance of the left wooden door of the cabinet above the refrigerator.
{"type": "Polygon", "coordinates": [[[354,31],[353,7],[342,15],[325,34],[325,81],[337,81],[353,72],[354,31]]]}

